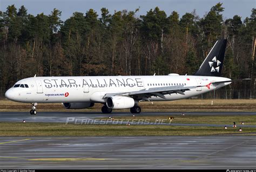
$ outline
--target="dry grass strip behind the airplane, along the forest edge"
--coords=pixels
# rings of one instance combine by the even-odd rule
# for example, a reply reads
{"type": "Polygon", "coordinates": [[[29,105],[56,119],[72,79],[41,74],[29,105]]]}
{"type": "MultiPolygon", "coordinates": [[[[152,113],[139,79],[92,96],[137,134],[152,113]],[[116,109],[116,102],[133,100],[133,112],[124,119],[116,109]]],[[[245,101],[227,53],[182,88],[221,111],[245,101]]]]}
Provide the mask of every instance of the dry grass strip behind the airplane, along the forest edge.
{"type": "MultiPolygon", "coordinates": [[[[237,111],[237,112],[255,112],[256,111],[256,99],[182,99],[179,101],[170,102],[141,102],[139,105],[142,107],[142,111],[173,111],[173,112],[188,112],[188,111],[237,111]],[[212,105],[213,101],[213,105],[212,105]]],[[[101,111],[102,104],[95,104],[95,106],[89,109],[82,110],[68,110],[63,107],[61,103],[43,104],[39,103],[37,106],[38,112],[40,111],[77,111],[77,112],[90,112],[101,111]]],[[[26,111],[31,109],[29,103],[17,103],[8,101],[6,99],[0,100],[0,111],[26,111]]],[[[117,110],[117,111],[129,111],[117,110]]]]}

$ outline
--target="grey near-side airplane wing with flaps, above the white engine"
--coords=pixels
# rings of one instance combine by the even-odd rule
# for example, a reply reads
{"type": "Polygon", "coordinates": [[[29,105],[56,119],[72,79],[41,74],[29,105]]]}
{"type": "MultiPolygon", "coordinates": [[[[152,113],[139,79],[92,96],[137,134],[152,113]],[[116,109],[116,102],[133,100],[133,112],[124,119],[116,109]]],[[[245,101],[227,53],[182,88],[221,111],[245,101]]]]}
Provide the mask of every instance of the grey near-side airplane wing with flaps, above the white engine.
{"type": "Polygon", "coordinates": [[[136,99],[145,99],[146,101],[148,101],[148,98],[151,96],[158,96],[165,99],[166,97],[164,95],[167,95],[167,94],[185,95],[184,94],[185,91],[200,87],[200,86],[191,86],[191,87],[184,87],[184,86],[185,85],[177,85],[177,86],[169,86],[169,87],[149,88],[149,89],[143,89],[143,90],[131,91],[131,92],[108,93],[103,98],[120,95],[120,96],[135,97],[136,99]]]}

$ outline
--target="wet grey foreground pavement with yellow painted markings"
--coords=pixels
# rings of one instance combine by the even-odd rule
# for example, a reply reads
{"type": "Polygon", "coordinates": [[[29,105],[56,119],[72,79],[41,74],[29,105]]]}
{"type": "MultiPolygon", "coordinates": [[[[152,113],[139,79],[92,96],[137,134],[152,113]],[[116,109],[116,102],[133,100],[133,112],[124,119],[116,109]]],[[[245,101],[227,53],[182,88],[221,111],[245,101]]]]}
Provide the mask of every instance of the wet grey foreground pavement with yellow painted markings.
{"type": "Polygon", "coordinates": [[[0,169],[256,169],[256,138],[0,137],[0,169]]]}

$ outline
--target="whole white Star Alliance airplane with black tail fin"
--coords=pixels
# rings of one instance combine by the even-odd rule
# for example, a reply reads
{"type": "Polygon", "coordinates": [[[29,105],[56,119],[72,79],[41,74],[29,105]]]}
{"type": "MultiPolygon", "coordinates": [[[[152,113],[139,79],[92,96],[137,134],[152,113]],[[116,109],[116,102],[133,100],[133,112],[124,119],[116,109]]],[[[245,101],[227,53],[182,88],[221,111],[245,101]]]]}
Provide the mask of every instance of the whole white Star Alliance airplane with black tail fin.
{"type": "Polygon", "coordinates": [[[50,76],[29,77],[14,84],[5,97],[31,103],[30,114],[37,114],[37,103],[63,103],[66,109],[86,109],[102,103],[102,112],[130,109],[140,113],[139,102],[174,101],[219,89],[234,81],[220,77],[227,40],[218,40],[193,75],[166,76],[50,76]]]}

